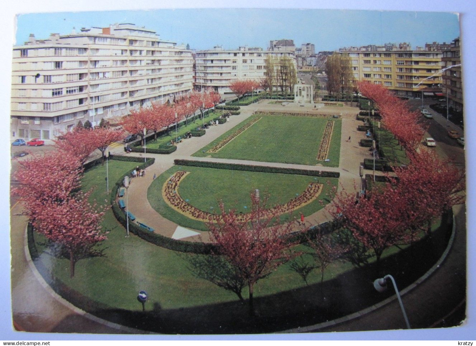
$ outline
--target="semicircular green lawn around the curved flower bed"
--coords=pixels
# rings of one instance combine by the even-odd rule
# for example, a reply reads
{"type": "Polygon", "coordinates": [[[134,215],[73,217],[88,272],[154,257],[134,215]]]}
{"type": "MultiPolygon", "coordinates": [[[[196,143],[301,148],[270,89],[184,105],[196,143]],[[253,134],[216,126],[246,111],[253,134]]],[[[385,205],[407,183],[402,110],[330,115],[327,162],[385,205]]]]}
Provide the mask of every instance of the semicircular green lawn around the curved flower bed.
{"type": "MultiPolygon", "coordinates": [[[[218,201],[221,199],[227,209],[235,208],[238,212],[246,213],[251,206],[249,193],[254,189],[259,189],[263,194],[268,192],[270,195],[268,204],[277,205],[295,198],[296,194],[302,193],[310,182],[324,183],[324,189],[316,201],[293,212],[295,216],[299,215],[299,212],[307,216],[322,209],[329,202],[327,194],[332,191],[332,186],[337,186],[336,178],[174,166],[150,185],[147,194],[149,203],[165,218],[184,227],[201,231],[208,230],[203,222],[189,219],[170,208],[162,199],[163,184],[170,175],[180,170],[190,172],[179,185],[180,196],[196,208],[208,212],[218,212],[218,201]]],[[[282,220],[288,221],[289,215],[283,215],[282,220]]]]}

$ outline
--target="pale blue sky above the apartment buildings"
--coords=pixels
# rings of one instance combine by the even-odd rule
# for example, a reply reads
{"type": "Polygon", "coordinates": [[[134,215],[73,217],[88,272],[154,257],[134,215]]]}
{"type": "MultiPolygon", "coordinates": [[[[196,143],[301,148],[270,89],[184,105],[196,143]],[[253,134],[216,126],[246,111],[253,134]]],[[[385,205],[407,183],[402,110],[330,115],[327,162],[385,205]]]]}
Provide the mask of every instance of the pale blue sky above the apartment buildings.
{"type": "Polygon", "coordinates": [[[30,33],[48,38],[72,28],[134,23],[157,31],[161,38],[189,44],[192,49],[214,45],[266,48],[269,40],[313,43],[316,50],[346,46],[410,42],[451,42],[459,36],[458,16],[449,12],[299,10],[299,9],[177,9],[98,12],[31,13],[18,16],[17,44],[30,33]]]}

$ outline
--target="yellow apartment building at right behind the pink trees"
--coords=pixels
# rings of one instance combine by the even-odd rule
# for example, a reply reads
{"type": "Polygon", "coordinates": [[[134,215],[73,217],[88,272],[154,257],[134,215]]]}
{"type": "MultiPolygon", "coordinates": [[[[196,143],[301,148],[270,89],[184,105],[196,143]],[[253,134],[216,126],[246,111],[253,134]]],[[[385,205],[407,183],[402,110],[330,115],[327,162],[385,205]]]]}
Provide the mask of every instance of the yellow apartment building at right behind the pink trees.
{"type": "Polygon", "coordinates": [[[341,48],[348,53],[356,80],[367,80],[393,90],[399,96],[425,97],[441,93],[442,52],[409,43],[341,48]]]}

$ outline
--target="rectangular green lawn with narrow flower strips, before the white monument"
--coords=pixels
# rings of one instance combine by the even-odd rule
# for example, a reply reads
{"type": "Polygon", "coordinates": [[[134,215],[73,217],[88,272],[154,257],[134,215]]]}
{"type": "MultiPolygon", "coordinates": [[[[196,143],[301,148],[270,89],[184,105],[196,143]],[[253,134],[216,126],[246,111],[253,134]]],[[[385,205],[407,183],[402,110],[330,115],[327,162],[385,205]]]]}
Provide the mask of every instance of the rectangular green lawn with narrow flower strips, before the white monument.
{"type": "Polygon", "coordinates": [[[208,153],[208,150],[256,116],[233,127],[193,156],[338,167],[341,120],[333,120],[335,124],[328,156],[330,161],[324,162],[317,161],[317,152],[327,119],[304,116],[259,116],[261,119],[258,122],[217,153],[208,153]]]}

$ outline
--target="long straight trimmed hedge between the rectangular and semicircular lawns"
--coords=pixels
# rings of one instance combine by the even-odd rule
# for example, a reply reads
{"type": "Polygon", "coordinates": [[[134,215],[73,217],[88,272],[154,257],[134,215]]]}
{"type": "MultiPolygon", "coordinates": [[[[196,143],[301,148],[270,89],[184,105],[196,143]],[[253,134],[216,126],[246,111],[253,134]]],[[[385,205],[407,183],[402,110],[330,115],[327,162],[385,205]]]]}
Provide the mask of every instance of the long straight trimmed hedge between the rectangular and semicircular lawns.
{"type": "Polygon", "coordinates": [[[241,164],[241,163],[221,163],[221,162],[195,161],[195,160],[185,160],[185,159],[175,159],[174,163],[181,166],[231,169],[235,171],[299,174],[299,175],[309,175],[313,177],[325,177],[325,178],[338,178],[340,176],[339,172],[312,171],[312,170],[298,169],[298,168],[254,166],[254,165],[241,164]]]}

